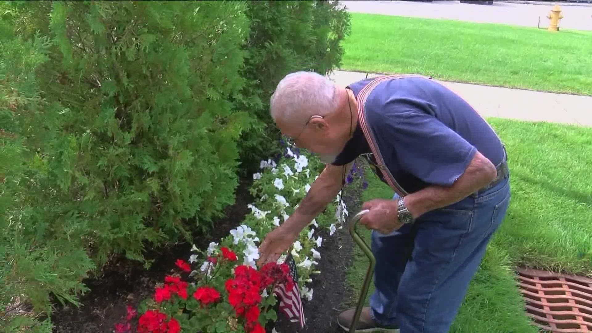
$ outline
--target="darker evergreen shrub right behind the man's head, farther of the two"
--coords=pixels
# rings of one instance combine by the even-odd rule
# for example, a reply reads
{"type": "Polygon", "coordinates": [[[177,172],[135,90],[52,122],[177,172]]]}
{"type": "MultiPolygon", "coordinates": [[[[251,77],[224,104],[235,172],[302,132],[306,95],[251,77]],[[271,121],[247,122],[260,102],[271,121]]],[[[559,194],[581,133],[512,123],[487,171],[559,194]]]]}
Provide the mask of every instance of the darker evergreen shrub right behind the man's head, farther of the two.
{"type": "Polygon", "coordinates": [[[339,67],[340,41],[350,15],[338,1],[250,1],[249,41],[242,70],[246,84],[239,104],[259,120],[240,143],[241,161],[255,172],[259,159],[275,151],[279,131],[269,116],[269,98],[288,73],[326,73],[339,67]]]}

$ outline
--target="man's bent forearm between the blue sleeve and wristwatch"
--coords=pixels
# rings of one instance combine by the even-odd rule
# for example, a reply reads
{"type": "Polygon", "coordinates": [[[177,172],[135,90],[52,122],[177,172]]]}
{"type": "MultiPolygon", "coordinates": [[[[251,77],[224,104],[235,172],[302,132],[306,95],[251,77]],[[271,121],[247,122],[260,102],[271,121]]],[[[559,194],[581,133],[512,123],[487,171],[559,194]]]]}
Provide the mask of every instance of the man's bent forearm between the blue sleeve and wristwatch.
{"type": "Polygon", "coordinates": [[[481,153],[477,153],[464,174],[451,187],[432,185],[408,194],[405,205],[417,218],[431,210],[456,203],[489,184],[496,177],[496,167],[481,153]]]}

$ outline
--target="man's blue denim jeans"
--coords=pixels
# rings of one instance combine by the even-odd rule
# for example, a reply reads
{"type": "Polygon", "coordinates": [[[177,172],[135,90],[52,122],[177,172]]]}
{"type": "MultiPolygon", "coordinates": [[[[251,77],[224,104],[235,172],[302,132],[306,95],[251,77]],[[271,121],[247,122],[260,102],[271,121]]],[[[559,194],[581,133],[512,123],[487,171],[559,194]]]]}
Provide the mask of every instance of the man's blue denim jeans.
{"type": "Polygon", "coordinates": [[[509,201],[506,178],[483,193],[424,214],[414,230],[372,232],[374,319],[398,324],[401,333],[448,332],[509,201]]]}

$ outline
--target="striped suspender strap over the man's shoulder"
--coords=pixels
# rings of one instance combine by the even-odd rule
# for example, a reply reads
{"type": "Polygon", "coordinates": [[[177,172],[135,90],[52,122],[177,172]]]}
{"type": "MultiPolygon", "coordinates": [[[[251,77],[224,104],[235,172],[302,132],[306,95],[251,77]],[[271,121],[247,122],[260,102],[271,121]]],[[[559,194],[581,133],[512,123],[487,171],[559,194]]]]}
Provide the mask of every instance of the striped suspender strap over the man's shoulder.
{"type": "Polygon", "coordinates": [[[366,113],[365,113],[365,104],[366,104],[366,99],[368,98],[368,96],[370,95],[372,90],[374,90],[374,88],[376,88],[379,84],[381,84],[381,82],[384,82],[384,81],[387,81],[390,79],[406,78],[406,77],[410,77],[410,76],[425,77],[422,75],[380,76],[380,77],[374,79],[374,81],[370,82],[368,85],[366,85],[366,87],[364,87],[362,89],[362,91],[360,91],[360,93],[358,94],[358,98],[357,98],[357,100],[358,100],[358,122],[360,124],[360,127],[362,127],[362,132],[364,133],[364,136],[366,137],[366,141],[368,141],[368,145],[370,146],[372,153],[374,154],[374,158],[376,159],[376,162],[378,164],[378,168],[380,168],[382,175],[384,176],[385,180],[387,181],[388,185],[392,188],[392,190],[394,190],[395,193],[397,193],[400,197],[406,196],[407,192],[403,189],[403,187],[401,187],[401,185],[399,185],[397,183],[395,178],[392,176],[391,171],[387,168],[387,166],[384,163],[384,159],[382,158],[382,155],[378,149],[378,145],[377,145],[376,139],[374,137],[374,133],[372,133],[372,129],[370,129],[370,127],[368,126],[368,119],[366,119],[366,113]]]}

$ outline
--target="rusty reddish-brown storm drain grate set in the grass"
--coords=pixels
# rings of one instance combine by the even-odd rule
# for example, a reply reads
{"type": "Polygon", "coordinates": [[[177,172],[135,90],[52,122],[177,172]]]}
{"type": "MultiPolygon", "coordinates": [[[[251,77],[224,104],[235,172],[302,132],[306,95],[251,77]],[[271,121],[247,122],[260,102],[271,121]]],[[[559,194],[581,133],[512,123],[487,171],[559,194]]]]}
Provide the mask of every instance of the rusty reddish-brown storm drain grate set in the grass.
{"type": "Polygon", "coordinates": [[[519,268],[533,324],[551,332],[592,332],[592,278],[519,268]]]}

